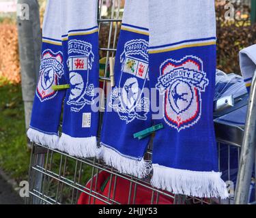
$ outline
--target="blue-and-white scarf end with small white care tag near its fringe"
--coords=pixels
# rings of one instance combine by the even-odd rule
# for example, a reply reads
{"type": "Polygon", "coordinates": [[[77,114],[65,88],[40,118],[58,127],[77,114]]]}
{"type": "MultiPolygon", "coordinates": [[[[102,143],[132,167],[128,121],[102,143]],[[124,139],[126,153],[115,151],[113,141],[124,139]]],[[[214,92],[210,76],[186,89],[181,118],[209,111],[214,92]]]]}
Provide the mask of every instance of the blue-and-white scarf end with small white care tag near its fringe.
{"type": "Polygon", "coordinates": [[[64,75],[67,89],[59,149],[70,155],[94,157],[98,151],[99,87],[97,1],[61,1],[64,75]],[[95,110],[93,110],[93,108],[95,110]]]}

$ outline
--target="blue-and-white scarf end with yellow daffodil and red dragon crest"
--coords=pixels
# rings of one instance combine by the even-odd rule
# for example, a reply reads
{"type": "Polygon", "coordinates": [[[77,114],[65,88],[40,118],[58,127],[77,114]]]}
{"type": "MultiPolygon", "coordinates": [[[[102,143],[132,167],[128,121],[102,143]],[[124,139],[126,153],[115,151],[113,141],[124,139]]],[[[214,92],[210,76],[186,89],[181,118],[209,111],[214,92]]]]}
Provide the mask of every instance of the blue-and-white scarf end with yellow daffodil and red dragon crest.
{"type": "Polygon", "coordinates": [[[143,159],[149,138],[133,134],[150,127],[147,0],[127,0],[115,57],[115,87],[102,124],[100,157],[119,172],[139,178],[150,172],[143,159]],[[134,16],[137,14],[137,16],[134,16]]]}

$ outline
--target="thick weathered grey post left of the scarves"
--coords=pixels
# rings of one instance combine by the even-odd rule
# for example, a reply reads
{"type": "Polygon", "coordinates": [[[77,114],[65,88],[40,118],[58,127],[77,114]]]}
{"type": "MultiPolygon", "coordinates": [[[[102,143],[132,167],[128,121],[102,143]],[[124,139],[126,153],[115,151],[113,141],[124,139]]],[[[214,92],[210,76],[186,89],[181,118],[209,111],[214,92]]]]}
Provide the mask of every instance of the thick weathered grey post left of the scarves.
{"type": "Polygon", "coordinates": [[[18,0],[17,25],[25,124],[28,129],[38,80],[42,45],[37,0],[18,0]]]}

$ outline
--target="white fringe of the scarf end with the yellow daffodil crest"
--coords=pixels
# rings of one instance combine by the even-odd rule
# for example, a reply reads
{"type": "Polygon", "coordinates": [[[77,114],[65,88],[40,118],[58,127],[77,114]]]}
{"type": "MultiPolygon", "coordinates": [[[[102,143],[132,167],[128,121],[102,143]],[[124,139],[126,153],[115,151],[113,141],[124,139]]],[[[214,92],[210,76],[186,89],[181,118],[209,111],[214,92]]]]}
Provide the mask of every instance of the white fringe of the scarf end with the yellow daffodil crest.
{"type": "Polygon", "coordinates": [[[104,160],[106,165],[113,166],[121,173],[130,174],[138,178],[145,178],[150,174],[152,167],[149,161],[131,159],[113,149],[109,149],[105,144],[101,143],[100,145],[99,157],[104,160]]]}

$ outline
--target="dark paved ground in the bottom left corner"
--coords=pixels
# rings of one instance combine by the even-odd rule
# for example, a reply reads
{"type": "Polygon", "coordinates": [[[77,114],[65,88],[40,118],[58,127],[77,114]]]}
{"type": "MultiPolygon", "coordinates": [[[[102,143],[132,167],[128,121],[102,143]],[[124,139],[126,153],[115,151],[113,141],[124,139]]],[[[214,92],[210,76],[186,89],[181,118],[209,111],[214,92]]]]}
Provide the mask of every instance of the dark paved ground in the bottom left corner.
{"type": "Polygon", "coordinates": [[[24,204],[12,186],[0,176],[0,204],[24,204]]]}

